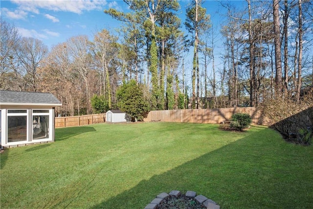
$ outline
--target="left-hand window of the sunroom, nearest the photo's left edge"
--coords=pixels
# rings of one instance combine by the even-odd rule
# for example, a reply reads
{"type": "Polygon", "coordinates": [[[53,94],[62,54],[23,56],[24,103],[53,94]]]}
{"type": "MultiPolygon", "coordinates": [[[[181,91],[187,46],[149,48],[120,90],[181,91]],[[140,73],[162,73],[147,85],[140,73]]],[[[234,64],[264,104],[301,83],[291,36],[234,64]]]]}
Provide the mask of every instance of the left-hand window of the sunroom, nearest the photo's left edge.
{"type": "Polygon", "coordinates": [[[8,142],[27,140],[27,110],[8,110],[8,142]]]}

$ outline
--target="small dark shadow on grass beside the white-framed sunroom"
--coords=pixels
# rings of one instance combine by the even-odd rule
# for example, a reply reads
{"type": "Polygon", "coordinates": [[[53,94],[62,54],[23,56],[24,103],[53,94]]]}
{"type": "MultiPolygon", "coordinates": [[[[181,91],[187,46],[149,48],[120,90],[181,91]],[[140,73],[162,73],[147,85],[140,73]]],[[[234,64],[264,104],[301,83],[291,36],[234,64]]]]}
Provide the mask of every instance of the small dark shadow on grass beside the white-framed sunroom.
{"type": "Polygon", "coordinates": [[[76,126],[55,129],[55,141],[62,141],[76,135],[96,131],[92,126],[76,126]]]}

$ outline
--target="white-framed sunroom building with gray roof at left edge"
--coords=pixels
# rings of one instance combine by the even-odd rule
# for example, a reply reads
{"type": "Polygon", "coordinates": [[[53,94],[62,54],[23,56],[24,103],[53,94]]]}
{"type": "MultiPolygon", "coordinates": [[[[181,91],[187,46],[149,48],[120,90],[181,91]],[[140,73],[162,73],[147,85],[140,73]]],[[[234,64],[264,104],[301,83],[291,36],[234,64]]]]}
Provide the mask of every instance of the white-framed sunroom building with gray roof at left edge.
{"type": "Polygon", "coordinates": [[[62,106],[62,103],[51,93],[0,90],[1,146],[54,141],[56,106],[62,106]]]}

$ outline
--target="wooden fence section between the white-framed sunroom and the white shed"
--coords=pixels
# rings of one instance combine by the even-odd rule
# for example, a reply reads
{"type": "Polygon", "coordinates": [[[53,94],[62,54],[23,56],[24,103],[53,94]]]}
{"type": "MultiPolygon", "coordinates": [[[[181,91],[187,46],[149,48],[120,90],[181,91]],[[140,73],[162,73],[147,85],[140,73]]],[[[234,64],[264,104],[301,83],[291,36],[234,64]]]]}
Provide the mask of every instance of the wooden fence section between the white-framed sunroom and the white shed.
{"type": "Polygon", "coordinates": [[[55,117],[54,123],[56,128],[68,126],[81,126],[93,123],[104,123],[106,121],[106,114],[86,115],[86,116],[69,116],[69,117],[55,117]]]}

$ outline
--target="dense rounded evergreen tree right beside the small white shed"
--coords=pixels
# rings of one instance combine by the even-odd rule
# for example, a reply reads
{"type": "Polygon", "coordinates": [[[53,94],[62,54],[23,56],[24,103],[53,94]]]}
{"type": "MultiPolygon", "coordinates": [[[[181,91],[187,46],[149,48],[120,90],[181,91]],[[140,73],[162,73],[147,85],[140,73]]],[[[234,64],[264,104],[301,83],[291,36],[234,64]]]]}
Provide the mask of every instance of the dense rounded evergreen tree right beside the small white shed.
{"type": "Polygon", "coordinates": [[[132,120],[142,121],[149,113],[148,102],[144,100],[143,88],[135,80],[123,83],[116,91],[117,107],[125,111],[132,120]]]}

